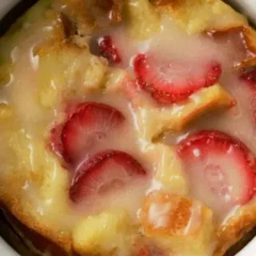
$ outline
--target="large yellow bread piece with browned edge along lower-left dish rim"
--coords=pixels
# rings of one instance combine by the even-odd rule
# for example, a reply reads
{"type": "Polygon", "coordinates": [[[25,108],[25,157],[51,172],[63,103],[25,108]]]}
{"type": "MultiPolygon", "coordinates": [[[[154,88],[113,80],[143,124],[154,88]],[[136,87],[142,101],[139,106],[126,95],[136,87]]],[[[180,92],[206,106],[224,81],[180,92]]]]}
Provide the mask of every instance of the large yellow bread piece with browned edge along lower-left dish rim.
{"type": "Polygon", "coordinates": [[[68,173],[45,150],[43,141],[28,138],[24,131],[12,131],[3,139],[9,144],[14,168],[2,179],[2,202],[30,229],[70,251],[70,230],[61,221],[70,212],[68,194],[63,193],[67,189],[68,173]],[[31,154],[34,154],[33,161],[30,161],[31,154]],[[57,223],[58,220],[62,223],[57,223]]]}

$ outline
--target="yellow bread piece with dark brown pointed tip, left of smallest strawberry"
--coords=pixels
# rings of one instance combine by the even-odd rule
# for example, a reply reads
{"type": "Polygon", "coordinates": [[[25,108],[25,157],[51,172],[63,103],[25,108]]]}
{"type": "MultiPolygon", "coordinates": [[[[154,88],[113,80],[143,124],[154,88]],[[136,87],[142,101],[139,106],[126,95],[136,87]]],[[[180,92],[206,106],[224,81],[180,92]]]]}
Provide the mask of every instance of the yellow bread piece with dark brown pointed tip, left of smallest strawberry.
{"type": "Polygon", "coordinates": [[[102,90],[108,71],[105,58],[90,54],[86,43],[78,46],[67,40],[62,19],[58,15],[55,19],[50,38],[34,50],[39,58],[38,98],[47,108],[57,106],[70,94],[74,97],[102,90]]]}

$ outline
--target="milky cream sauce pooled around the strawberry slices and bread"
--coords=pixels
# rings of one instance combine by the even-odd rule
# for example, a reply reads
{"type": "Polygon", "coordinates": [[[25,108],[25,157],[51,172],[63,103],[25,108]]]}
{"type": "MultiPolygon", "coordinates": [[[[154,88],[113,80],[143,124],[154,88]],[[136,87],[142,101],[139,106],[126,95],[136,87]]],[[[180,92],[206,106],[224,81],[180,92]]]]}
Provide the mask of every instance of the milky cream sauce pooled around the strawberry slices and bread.
{"type": "MultiPolygon", "coordinates": [[[[63,110],[60,104],[47,109],[43,107],[38,100],[38,69],[40,68],[40,59],[33,54],[34,46],[37,46],[43,38],[50,37],[54,30],[53,25],[51,23],[44,24],[44,22],[42,22],[42,24],[38,26],[26,27],[33,33],[19,40],[13,50],[11,50],[10,57],[15,66],[11,74],[10,82],[0,91],[0,98],[2,102],[7,102],[14,108],[15,118],[18,120],[18,127],[22,129],[25,137],[30,141],[26,144],[29,150],[29,166],[31,167],[29,171],[38,174],[38,172],[41,171],[38,165],[42,164],[42,162],[38,163],[38,158],[36,157],[38,153],[35,148],[35,142],[43,146],[45,145],[47,138],[46,130],[48,130],[53,121],[62,117],[63,110]]],[[[151,54],[161,56],[166,62],[178,60],[178,62],[186,64],[192,63],[188,66],[188,72],[191,74],[199,73],[203,68],[202,65],[209,59],[220,62],[223,70],[220,84],[226,88],[226,90],[229,90],[234,98],[236,98],[237,106],[230,111],[208,114],[200,118],[198,122],[191,124],[186,130],[182,131],[182,133],[166,134],[164,142],[167,145],[175,145],[182,138],[186,138],[188,134],[196,130],[215,129],[237,136],[256,154],[256,136],[254,136],[255,123],[252,120],[250,111],[253,96],[250,89],[243,82],[239,81],[238,74],[231,71],[230,63],[235,61],[238,52],[237,49],[229,47],[229,42],[216,43],[206,36],[188,36],[182,30],[178,29],[178,27],[174,25],[174,22],[168,19],[163,20],[162,29],[159,34],[144,42],[131,39],[124,26],[102,32],[102,34],[105,33],[112,35],[115,45],[118,46],[118,50],[122,53],[122,67],[130,72],[134,68],[134,56],[138,53],[147,53],[148,51],[150,51],[151,54]]],[[[180,72],[181,70],[177,70],[174,82],[179,81],[182,76],[186,75],[184,74],[184,70],[182,70],[182,74],[180,72]]],[[[74,90],[76,90],[77,85],[74,84],[74,82],[72,83],[72,81],[70,81],[70,83],[74,90]]],[[[146,93],[142,92],[142,94],[146,93]]],[[[152,102],[150,97],[146,97],[147,100],[152,102]]],[[[191,97],[193,97],[193,95],[191,97]]],[[[54,159],[51,159],[52,155],[50,154],[51,156],[49,156],[49,159],[46,159],[46,161],[53,162],[53,165],[50,165],[52,170],[47,171],[47,175],[50,176],[50,178],[48,178],[51,186],[48,185],[50,191],[54,193],[42,195],[40,188],[38,188],[36,184],[33,184],[33,181],[27,179],[21,187],[22,193],[26,198],[25,201],[30,202],[39,215],[44,216],[47,221],[54,223],[56,226],[62,226],[63,230],[72,230],[79,220],[84,218],[87,214],[95,214],[114,206],[126,208],[135,218],[135,215],[142,205],[146,192],[149,190],[158,190],[161,187],[161,184],[159,185],[158,182],[152,179],[154,172],[157,171],[155,170],[156,163],[161,159],[156,160],[156,162],[149,161],[149,156],[142,150],[142,148],[146,148],[150,142],[145,142],[137,137],[133,128],[133,126],[135,126],[133,119],[134,110],[130,106],[130,102],[122,94],[117,92],[105,94],[79,93],[75,94],[72,100],[75,102],[104,102],[120,110],[126,117],[124,129],[118,133],[118,136],[114,134],[99,146],[94,147],[90,154],[105,149],[123,150],[133,155],[134,158],[141,162],[150,178],[143,182],[135,182],[133,186],[122,190],[118,196],[116,194],[110,194],[110,196],[106,198],[92,198],[86,200],[79,206],[74,206],[74,204],[70,202],[67,193],[70,186],[71,174],[68,170],[63,170],[58,162],[58,158],[54,157],[54,159]],[[62,172],[66,172],[66,174],[62,174],[62,172]],[[59,185],[60,183],[61,185],[59,185]],[[152,186],[150,184],[152,184],[152,186]],[[61,186],[62,189],[65,187],[66,190],[58,190],[58,188],[53,189],[52,186],[61,186]],[[56,210],[56,207],[58,210],[56,210]]],[[[196,98],[195,100],[200,101],[201,99],[196,98]]],[[[180,111],[182,111],[182,108],[180,111]]],[[[9,128],[10,127],[6,127],[5,132],[7,132],[9,128]]],[[[45,150],[48,149],[45,148],[45,150]]],[[[2,151],[3,150],[1,150],[1,158],[11,158],[8,162],[19,161],[14,156],[11,157],[10,154],[8,154],[9,150],[5,150],[5,152],[2,151]]],[[[39,157],[43,158],[43,156],[44,154],[39,157]]],[[[12,169],[10,167],[14,168],[13,166],[8,166],[6,162],[1,161],[1,169],[12,169]]],[[[7,171],[4,173],[8,176],[7,171]]],[[[44,175],[42,175],[42,177],[46,178],[44,175]]],[[[5,179],[6,177],[1,176],[1,178],[5,179]]],[[[190,186],[194,186],[194,184],[190,186]]],[[[203,202],[207,201],[207,198],[203,198],[200,194],[195,194],[194,197],[201,199],[203,202]]],[[[162,219],[161,216],[166,210],[170,210],[170,206],[165,207],[166,208],[159,209],[157,206],[154,206],[154,209],[150,209],[150,218],[152,218],[152,222],[155,222],[156,226],[165,224],[165,219],[162,219]]],[[[189,233],[190,230],[194,230],[195,226],[199,226],[198,218],[198,209],[197,206],[195,206],[191,220],[186,227],[186,232],[189,233]]]]}

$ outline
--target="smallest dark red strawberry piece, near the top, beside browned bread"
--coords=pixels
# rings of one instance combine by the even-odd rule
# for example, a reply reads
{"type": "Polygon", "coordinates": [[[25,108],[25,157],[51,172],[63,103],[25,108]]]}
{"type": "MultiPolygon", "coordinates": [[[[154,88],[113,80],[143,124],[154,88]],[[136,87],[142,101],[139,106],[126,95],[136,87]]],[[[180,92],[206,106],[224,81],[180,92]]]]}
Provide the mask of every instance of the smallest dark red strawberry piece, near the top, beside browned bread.
{"type": "Polygon", "coordinates": [[[118,64],[122,62],[122,58],[118,52],[116,46],[114,46],[110,35],[98,39],[98,49],[103,57],[109,60],[112,64],[118,64]]]}

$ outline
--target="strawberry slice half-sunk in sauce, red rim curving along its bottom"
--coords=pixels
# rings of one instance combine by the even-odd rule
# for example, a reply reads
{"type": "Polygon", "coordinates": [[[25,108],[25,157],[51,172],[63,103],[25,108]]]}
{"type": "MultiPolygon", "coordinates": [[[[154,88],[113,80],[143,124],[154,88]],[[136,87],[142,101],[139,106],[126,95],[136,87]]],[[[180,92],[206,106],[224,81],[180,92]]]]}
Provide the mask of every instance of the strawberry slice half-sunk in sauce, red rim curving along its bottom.
{"type": "Polygon", "coordinates": [[[155,58],[138,54],[134,58],[134,72],[138,84],[159,103],[175,103],[186,100],[202,87],[218,81],[222,68],[210,62],[200,67],[196,64],[155,58]]]}

